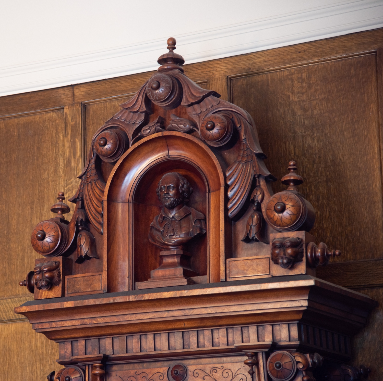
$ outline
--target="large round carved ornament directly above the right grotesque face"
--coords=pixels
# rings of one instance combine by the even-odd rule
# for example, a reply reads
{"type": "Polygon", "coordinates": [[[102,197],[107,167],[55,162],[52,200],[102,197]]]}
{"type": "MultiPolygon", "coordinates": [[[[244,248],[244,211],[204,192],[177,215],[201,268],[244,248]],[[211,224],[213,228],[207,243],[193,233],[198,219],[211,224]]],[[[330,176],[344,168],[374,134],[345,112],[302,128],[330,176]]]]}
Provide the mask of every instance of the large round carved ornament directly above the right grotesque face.
{"type": "Polygon", "coordinates": [[[297,194],[279,192],[268,200],[266,217],[277,230],[294,231],[304,221],[305,205],[297,194]]]}

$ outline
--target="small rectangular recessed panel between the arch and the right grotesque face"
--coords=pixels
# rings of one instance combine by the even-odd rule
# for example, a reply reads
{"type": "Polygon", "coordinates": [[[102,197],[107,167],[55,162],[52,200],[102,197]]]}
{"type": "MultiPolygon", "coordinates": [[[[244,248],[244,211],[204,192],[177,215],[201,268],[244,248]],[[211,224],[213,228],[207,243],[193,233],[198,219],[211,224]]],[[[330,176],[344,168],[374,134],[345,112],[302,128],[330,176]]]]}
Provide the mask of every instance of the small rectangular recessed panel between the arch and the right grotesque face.
{"type": "Polygon", "coordinates": [[[229,278],[255,277],[270,274],[269,257],[248,257],[228,261],[229,278]]]}

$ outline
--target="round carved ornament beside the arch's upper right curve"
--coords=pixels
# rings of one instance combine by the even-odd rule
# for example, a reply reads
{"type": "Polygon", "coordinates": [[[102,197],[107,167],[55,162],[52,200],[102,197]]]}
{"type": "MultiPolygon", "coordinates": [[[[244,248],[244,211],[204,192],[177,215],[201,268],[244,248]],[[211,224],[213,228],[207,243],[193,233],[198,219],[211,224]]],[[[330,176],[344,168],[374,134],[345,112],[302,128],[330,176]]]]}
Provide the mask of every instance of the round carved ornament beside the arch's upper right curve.
{"type": "Polygon", "coordinates": [[[202,120],[200,133],[206,143],[219,147],[230,140],[233,125],[231,120],[226,119],[223,115],[211,114],[202,120]]]}

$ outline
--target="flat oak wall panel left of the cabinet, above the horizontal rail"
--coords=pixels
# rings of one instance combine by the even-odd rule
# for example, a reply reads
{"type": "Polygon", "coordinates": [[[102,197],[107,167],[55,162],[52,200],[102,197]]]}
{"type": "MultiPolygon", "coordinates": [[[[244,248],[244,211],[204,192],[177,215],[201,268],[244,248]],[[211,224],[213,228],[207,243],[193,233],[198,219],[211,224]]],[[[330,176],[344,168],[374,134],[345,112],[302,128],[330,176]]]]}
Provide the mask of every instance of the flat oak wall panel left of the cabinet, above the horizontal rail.
{"type": "Polygon", "coordinates": [[[0,153],[0,245],[8,274],[0,279],[0,296],[27,295],[18,282],[39,257],[31,246],[31,231],[54,217],[51,205],[65,189],[64,109],[0,119],[0,131],[5,142],[0,153]]]}

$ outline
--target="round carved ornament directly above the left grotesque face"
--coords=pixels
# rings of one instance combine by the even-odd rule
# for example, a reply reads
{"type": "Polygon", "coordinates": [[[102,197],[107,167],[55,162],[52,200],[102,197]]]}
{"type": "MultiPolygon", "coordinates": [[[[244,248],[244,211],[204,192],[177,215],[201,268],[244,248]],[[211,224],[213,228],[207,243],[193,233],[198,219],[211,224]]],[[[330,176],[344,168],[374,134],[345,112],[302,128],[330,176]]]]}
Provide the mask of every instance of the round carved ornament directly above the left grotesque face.
{"type": "Polygon", "coordinates": [[[43,255],[51,254],[61,241],[61,229],[56,222],[42,221],[32,232],[31,243],[34,250],[43,255]]]}

